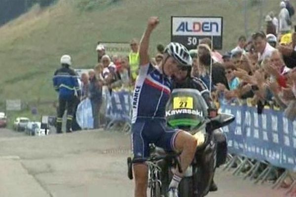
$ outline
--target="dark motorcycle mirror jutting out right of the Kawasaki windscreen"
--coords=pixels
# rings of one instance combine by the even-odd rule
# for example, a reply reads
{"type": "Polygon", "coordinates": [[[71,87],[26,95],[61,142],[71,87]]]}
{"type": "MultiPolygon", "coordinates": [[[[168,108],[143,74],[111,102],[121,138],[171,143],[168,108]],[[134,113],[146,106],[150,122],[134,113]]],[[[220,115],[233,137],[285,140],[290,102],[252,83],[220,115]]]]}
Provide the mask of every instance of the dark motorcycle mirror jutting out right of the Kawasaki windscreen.
{"type": "Polygon", "coordinates": [[[229,125],[235,120],[232,114],[220,113],[215,118],[211,118],[207,126],[210,126],[211,130],[216,130],[226,125],[229,125]]]}

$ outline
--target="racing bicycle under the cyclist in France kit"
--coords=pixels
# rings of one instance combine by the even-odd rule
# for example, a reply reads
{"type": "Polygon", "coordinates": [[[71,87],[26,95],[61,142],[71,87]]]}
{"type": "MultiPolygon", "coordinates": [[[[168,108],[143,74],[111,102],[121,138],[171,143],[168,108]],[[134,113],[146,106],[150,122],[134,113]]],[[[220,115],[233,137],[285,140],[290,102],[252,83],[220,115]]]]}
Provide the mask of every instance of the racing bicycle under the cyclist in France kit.
{"type": "MultiPolygon", "coordinates": [[[[178,160],[178,153],[167,153],[162,149],[155,147],[155,145],[150,144],[150,149],[154,149],[153,153],[150,154],[150,157],[147,159],[132,159],[131,157],[127,158],[128,166],[128,177],[133,179],[132,164],[145,161],[148,164],[149,169],[149,178],[148,178],[148,188],[150,189],[151,197],[165,197],[162,193],[162,189],[168,189],[162,187],[161,182],[161,166],[162,161],[167,161],[165,164],[170,164],[170,166],[177,166],[179,172],[182,173],[181,164],[178,160]]],[[[168,186],[167,186],[168,187],[168,186]]]]}

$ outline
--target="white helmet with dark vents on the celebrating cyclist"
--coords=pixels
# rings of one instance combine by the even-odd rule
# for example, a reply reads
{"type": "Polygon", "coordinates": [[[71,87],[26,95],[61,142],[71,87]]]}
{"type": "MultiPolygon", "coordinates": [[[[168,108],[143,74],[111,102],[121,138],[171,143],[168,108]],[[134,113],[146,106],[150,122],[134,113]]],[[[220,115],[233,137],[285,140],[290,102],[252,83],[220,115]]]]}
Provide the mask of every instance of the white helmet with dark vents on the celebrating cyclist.
{"type": "Polygon", "coordinates": [[[164,52],[175,58],[181,66],[192,66],[192,58],[189,51],[182,44],[171,42],[165,47],[164,52]]]}

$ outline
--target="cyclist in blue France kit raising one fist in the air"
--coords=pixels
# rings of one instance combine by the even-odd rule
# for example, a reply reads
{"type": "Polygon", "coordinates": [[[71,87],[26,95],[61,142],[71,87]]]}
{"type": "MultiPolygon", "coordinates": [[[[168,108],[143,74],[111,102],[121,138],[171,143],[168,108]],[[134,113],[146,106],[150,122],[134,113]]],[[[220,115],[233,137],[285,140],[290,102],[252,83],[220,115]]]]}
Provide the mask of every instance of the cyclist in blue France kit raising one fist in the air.
{"type": "MultiPolygon", "coordinates": [[[[147,197],[149,143],[167,151],[179,151],[183,172],[192,162],[196,139],[189,133],[173,130],[166,126],[165,105],[170,97],[170,77],[179,67],[191,66],[192,60],[187,49],[179,43],[170,43],[165,48],[163,61],[154,67],[149,63],[148,45],[152,31],[158,25],[157,17],[150,17],[143,34],[140,48],[139,75],[135,83],[132,110],[133,171],[135,176],[135,197],[147,197]]],[[[175,169],[169,185],[168,196],[178,197],[178,186],[183,174],[175,169]]]]}

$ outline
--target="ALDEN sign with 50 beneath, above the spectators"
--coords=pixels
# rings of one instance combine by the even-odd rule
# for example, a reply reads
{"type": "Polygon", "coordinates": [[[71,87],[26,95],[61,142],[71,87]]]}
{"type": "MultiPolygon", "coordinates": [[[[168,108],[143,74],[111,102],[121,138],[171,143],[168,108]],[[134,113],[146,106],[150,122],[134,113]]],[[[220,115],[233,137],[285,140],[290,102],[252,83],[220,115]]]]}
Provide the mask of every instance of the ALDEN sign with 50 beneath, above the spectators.
{"type": "Polygon", "coordinates": [[[196,49],[202,38],[212,36],[213,48],[222,49],[222,33],[222,17],[171,17],[171,41],[182,43],[188,50],[196,49]]]}

